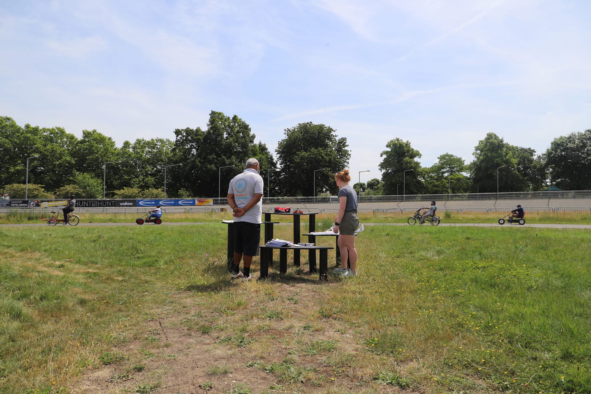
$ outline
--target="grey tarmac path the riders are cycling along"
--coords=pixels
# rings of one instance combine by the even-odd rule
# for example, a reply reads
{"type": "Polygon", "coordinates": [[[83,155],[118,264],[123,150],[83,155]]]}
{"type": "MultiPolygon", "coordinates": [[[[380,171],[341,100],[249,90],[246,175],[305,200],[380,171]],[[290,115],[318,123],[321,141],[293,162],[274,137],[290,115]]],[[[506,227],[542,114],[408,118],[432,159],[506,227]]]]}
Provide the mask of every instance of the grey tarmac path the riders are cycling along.
{"type": "MultiPolygon", "coordinates": [[[[210,224],[217,222],[170,222],[162,224],[142,224],[142,226],[184,226],[187,224],[210,224]]],[[[291,223],[278,223],[283,226],[291,226],[291,223]]],[[[407,223],[363,223],[365,226],[409,226],[407,223]]],[[[35,227],[35,226],[47,226],[46,223],[24,223],[24,224],[0,224],[0,227],[35,227]]],[[[64,226],[64,224],[57,224],[57,226],[64,226]]],[[[57,227],[56,226],[56,227],[57,227]]],[[[137,223],[80,223],[78,226],[139,226],[137,223]]],[[[76,227],[78,227],[76,226],[76,227]]],[[[415,224],[419,226],[419,224],[415,224]]],[[[423,226],[431,227],[430,224],[424,224],[423,226]]],[[[541,229],[591,229],[591,224],[535,224],[525,223],[519,224],[498,224],[498,223],[440,223],[437,227],[446,226],[472,226],[472,227],[537,227],[541,229]]]]}

